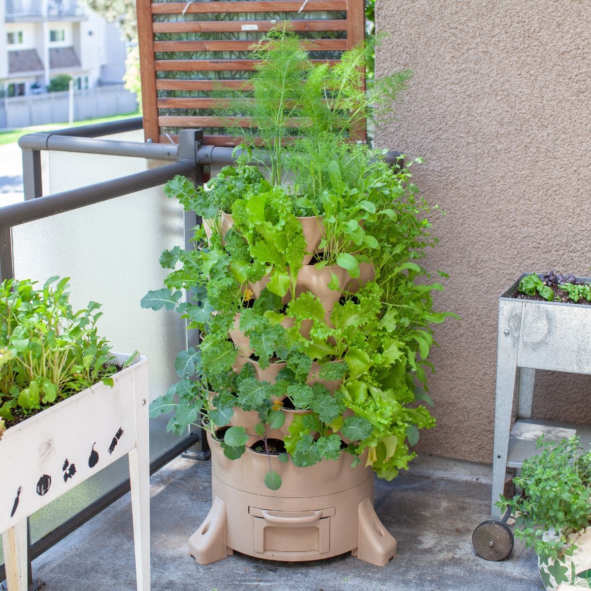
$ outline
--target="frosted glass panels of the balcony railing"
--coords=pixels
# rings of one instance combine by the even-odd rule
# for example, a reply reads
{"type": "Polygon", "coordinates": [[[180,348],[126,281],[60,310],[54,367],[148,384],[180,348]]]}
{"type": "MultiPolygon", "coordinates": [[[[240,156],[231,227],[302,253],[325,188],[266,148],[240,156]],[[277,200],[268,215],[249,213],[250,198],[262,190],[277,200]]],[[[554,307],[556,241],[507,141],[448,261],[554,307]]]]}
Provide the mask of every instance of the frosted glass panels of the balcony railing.
{"type": "MultiPolygon", "coordinates": [[[[119,138],[139,140],[141,132],[119,138]]],[[[163,164],[64,152],[42,155],[44,194],[163,164]]],[[[185,347],[186,331],[175,312],[144,310],[139,301],[148,290],[163,287],[168,271],[158,259],[164,249],[184,245],[183,228],[182,208],[157,187],[13,229],[15,277],[42,283],[53,275],[70,277],[74,307],[85,307],[90,300],[102,304],[99,330],[111,340],[113,350],[137,349],[148,356],[150,400],[177,381],[173,362],[185,347]]],[[[165,432],[167,420],[151,420],[152,459],[179,442],[165,432]]],[[[31,517],[33,543],[128,477],[124,458],[35,514],[31,517]]]]}

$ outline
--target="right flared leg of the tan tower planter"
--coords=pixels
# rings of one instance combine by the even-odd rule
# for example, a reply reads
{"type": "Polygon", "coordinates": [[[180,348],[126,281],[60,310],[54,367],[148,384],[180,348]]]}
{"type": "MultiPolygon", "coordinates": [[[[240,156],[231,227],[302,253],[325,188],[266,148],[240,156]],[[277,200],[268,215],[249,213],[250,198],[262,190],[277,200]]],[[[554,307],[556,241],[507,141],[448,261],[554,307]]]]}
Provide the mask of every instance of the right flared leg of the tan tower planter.
{"type": "Polygon", "coordinates": [[[359,503],[357,522],[357,550],[353,556],[375,566],[388,564],[396,556],[396,540],[382,525],[371,499],[359,503]]]}

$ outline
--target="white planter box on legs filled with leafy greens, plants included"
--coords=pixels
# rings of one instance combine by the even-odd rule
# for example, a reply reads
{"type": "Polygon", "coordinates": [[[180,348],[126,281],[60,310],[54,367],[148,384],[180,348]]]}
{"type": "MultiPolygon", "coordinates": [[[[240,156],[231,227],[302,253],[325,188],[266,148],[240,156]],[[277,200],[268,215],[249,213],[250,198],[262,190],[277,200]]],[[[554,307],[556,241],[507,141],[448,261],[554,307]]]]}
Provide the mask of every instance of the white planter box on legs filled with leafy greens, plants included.
{"type": "Polygon", "coordinates": [[[27,576],[19,570],[27,517],[129,453],[138,589],[148,589],[147,360],[113,355],[96,327],[99,304],[74,310],[67,282],[0,283],[0,532],[8,587],[22,588],[27,576]]]}

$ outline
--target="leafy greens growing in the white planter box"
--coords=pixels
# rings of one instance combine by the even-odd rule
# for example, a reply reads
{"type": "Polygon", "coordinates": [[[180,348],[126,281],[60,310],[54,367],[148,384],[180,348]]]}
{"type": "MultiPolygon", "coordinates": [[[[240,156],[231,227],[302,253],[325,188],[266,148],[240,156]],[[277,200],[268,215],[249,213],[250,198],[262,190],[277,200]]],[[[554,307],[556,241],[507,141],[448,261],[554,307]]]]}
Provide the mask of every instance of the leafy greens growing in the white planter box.
{"type": "Polygon", "coordinates": [[[111,347],[98,335],[100,304],[74,311],[69,278],[0,283],[0,418],[14,421],[99,381],[113,385],[111,347]]]}

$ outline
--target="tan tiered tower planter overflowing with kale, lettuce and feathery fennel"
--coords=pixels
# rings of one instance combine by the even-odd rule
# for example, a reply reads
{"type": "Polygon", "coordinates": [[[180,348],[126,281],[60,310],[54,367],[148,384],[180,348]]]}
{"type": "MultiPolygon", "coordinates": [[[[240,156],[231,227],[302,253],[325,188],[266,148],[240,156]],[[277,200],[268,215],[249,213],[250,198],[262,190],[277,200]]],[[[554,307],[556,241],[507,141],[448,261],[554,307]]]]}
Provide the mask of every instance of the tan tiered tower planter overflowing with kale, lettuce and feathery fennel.
{"type": "MultiPolygon", "coordinates": [[[[225,194],[219,215],[231,225],[198,227],[199,248],[161,256],[166,287],[142,306],[176,308],[202,341],[178,355],[181,379],[151,412],[174,411],[178,433],[199,419],[207,430],[214,502],[190,541],[200,563],[232,550],[274,560],[350,550],[386,564],[395,540],[373,511],[372,473],[394,478],[418,429],[434,425],[421,404],[431,403],[431,325],[449,316],[433,310],[443,288],[421,266],[436,243],[430,207],[414,163],[391,168],[347,141],[371,115],[359,71],[368,48],[331,69],[312,64],[293,34],[265,42],[253,98],[239,108],[258,134],[243,134],[243,155],[267,164],[268,179],[249,174],[248,187],[225,194]]],[[[397,98],[409,76],[382,80],[375,102],[397,98]]],[[[168,184],[177,193],[217,215],[186,179],[168,184]]]]}

